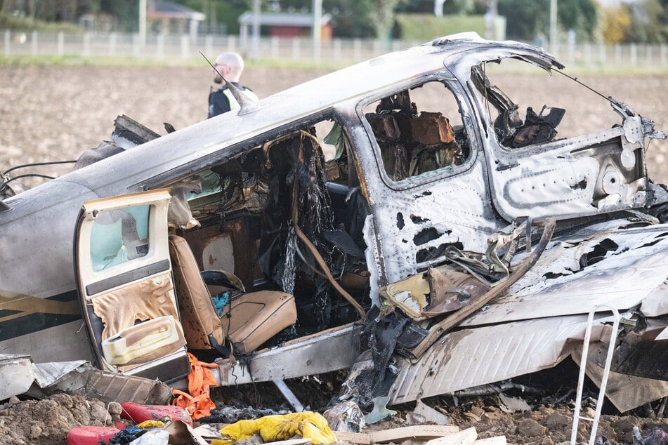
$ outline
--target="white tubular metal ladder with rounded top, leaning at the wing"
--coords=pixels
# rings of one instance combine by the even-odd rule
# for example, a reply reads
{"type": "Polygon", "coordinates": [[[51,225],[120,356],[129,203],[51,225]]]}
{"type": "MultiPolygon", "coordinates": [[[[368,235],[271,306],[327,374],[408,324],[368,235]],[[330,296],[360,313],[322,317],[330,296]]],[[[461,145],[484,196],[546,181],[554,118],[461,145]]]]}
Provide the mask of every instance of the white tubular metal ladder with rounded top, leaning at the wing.
{"type": "Polygon", "coordinates": [[[589,311],[587,318],[587,329],[584,331],[584,345],[582,345],[582,357],[580,358],[580,373],[577,379],[577,395],[575,396],[575,411],[573,411],[573,428],[570,432],[570,445],[575,445],[577,439],[577,426],[579,420],[587,420],[591,422],[591,434],[589,434],[589,445],[594,445],[596,441],[596,430],[598,430],[598,418],[601,417],[601,409],[603,408],[603,399],[605,399],[605,387],[608,385],[608,374],[610,374],[610,364],[613,362],[613,352],[615,351],[615,343],[617,342],[617,328],[620,326],[620,312],[610,303],[601,303],[596,305],[589,311]],[[598,400],[596,401],[596,413],[594,418],[580,416],[582,409],[582,387],[584,386],[584,369],[587,368],[587,355],[589,354],[589,340],[591,338],[591,326],[594,324],[594,314],[601,309],[609,309],[613,312],[615,321],[613,323],[613,330],[610,333],[610,344],[608,345],[608,356],[605,358],[605,367],[603,368],[603,377],[601,378],[601,387],[598,391],[598,400]]]}

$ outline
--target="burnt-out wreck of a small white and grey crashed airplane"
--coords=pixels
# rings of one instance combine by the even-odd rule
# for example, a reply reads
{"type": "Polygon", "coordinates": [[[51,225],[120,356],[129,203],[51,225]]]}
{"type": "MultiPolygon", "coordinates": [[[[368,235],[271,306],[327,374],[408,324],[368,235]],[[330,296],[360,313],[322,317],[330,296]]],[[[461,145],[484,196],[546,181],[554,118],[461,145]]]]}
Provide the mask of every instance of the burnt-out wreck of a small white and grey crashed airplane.
{"type": "Polygon", "coordinates": [[[221,385],[350,368],[368,409],[577,361],[591,310],[605,350],[608,303],[608,397],[667,396],[665,136],[581,85],[598,128],[567,135],[551,90],[520,112],[500,88],[512,63],[579,83],[457,34],[162,136],[119,117],[88,165],[4,178],[0,353],[168,383],[187,350],[221,385]]]}

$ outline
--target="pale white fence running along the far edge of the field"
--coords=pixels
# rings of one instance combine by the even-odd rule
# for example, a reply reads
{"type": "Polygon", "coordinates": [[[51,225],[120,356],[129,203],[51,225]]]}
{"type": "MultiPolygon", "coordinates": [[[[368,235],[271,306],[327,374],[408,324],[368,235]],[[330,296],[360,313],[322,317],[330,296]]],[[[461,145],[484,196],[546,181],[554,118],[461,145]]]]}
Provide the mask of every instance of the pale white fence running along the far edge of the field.
{"type": "MultiPolygon", "coordinates": [[[[357,62],[376,57],[389,51],[397,51],[420,44],[418,41],[381,41],[362,39],[332,39],[314,46],[306,38],[259,39],[256,51],[251,51],[251,41],[237,36],[150,35],[145,41],[139,34],[65,34],[46,32],[0,31],[4,41],[4,56],[39,55],[83,57],[135,57],[154,60],[199,58],[199,51],[212,57],[221,51],[238,51],[255,54],[259,60],[295,60],[357,62]]],[[[557,58],[568,67],[642,67],[663,69],[668,67],[666,45],[603,45],[579,44],[561,46],[557,58]]]]}

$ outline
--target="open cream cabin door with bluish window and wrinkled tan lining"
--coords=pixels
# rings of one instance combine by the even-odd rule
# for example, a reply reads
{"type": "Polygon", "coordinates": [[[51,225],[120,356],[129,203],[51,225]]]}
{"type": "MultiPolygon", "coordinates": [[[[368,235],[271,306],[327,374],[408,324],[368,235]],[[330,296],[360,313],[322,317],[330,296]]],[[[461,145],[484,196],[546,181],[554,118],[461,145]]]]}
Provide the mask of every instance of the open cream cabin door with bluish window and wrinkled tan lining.
{"type": "Polygon", "coordinates": [[[188,374],[173,288],[167,190],[84,203],[74,264],[84,321],[98,366],[159,378],[188,374]]]}

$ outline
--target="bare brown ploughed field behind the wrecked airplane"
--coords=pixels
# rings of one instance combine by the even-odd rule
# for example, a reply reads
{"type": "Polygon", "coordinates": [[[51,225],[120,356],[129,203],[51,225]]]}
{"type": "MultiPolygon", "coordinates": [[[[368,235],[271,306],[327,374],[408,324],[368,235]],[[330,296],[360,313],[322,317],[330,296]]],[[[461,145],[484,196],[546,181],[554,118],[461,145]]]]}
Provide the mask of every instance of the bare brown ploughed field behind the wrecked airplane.
{"type": "MultiPolygon", "coordinates": [[[[262,98],[326,72],[249,67],[243,83],[262,98]]],[[[657,128],[668,131],[668,77],[587,76],[581,80],[604,95],[627,102],[639,114],[654,119],[657,128]]],[[[83,150],[110,138],[118,114],[127,114],[158,133],[164,133],[163,122],[176,128],[195,124],[206,117],[210,81],[210,69],[204,67],[2,65],[0,171],[27,162],[75,159],[83,150]]],[[[498,81],[502,86],[516,87],[513,100],[520,105],[542,100],[566,108],[565,121],[576,126],[596,124],[601,119],[589,107],[600,100],[570,81],[561,83],[567,86],[558,92],[546,91],[537,77],[522,74],[504,74],[498,81]],[[553,93],[560,96],[557,103],[551,103],[553,93]]],[[[570,133],[577,128],[564,130],[570,133]]],[[[650,178],[668,182],[668,164],[664,163],[668,142],[654,140],[647,156],[650,178]]],[[[65,171],[67,167],[49,167],[41,173],[65,171]]]]}

